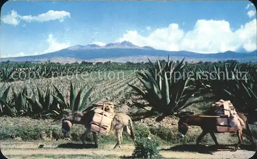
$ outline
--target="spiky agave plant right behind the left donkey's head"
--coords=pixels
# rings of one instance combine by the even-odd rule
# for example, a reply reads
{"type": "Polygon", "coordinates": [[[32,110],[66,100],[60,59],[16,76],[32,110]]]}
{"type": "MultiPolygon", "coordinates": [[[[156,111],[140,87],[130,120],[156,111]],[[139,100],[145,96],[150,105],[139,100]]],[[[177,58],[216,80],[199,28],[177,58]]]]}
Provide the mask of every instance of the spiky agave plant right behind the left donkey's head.
{"type": "Polygon", "coordinates": [[[86,86],[82,87],[79,90],[79,93],[76,95],[76,85],[77,83],[74,85],[72,82],[70,82],[69,104],[64,100],[63,95],[60,93],[60,90],[55,85],[53,85],[56,89],[56,93],[52,94],[53,102],[56,102],[59,105],[56,105],[52,112],[49,113],[50,116],[55,116],[56,118],[59,118],[62,117],[63,114],[71,111],[86,112],[92,109],[94,107],[94,104],[100,100],[98,98],[90,102],[88,101],[94,87],[91,87],[89,90],[87,90],[83,98],[81,97],[81,95],[84,92],[86,86]]]}

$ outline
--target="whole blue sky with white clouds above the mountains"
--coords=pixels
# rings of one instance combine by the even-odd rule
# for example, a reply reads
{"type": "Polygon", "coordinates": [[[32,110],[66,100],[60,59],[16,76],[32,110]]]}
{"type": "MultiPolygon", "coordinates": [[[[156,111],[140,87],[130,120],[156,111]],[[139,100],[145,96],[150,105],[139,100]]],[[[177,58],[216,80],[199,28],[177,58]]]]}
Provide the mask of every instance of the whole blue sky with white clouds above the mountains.
{"type": "Polygon", "coordinates": [[[251,52],[250,1],[14,1],[1,8],[1,57],[130,41],[158,50],[251,52]]]}

